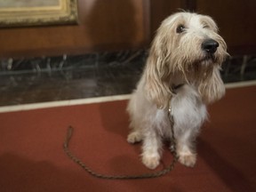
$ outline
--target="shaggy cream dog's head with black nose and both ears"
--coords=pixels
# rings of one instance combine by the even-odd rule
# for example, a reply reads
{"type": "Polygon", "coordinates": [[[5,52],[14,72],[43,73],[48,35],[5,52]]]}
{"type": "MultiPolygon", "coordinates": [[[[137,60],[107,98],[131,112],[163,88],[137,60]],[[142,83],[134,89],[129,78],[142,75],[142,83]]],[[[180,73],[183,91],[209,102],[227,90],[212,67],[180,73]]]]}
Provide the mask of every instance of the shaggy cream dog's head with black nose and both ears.
{"type": "Polygon", "coordinates": [[[219,100],[225,93],[219,70],[227,55],[211,17],[190,12],[171,15],[158,28],[150,49],[145,69],[149,100],[166,106],[172,84],[182,81],[196,86],[205,103],[219,100]]]}

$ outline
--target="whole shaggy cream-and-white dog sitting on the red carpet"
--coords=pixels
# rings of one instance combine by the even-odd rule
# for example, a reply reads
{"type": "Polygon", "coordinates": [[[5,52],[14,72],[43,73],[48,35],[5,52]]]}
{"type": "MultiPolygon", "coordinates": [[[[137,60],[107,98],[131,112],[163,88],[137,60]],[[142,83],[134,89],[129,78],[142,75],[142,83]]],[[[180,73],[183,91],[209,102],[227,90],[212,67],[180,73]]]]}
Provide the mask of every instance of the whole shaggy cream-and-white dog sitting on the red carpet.
{"type": "Polygon", "coordinates": [[[220,69],[227,56],[227,44],[209,16],[176,12],[157,29],[127,106],[132,129],[127,141],[142,141],[141,159],[149,169],[159,164],[172,129],[180,164],[196,164],[195,141],[208,118],[206,106],[225,95],[220,69]]]}

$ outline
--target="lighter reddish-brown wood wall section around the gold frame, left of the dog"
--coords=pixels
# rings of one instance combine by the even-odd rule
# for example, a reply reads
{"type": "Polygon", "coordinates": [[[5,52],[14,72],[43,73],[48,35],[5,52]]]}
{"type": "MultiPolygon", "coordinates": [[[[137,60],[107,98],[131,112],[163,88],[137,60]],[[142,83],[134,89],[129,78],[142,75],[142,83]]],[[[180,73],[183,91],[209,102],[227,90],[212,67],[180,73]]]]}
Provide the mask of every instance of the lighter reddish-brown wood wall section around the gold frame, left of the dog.
{"type": "Polygon", "coordinates": [[[0,57],[140,47],[148,41],[148,0],[78,0],[80,24],[1,28],[0,57]]]}

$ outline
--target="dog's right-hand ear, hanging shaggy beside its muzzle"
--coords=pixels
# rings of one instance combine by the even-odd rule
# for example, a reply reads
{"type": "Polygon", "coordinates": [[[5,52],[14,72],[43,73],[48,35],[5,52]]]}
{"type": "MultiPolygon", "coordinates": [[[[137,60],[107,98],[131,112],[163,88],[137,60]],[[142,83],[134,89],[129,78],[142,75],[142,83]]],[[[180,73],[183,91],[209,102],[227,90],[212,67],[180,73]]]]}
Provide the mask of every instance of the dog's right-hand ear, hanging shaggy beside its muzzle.
{"type": "Polygon", "coordinates": [[[225,95],[225,85],[220,77],[220,67],[213,68],[212,74],[199,85],[199,92],[205,104],[220,100],[225,95]]]}

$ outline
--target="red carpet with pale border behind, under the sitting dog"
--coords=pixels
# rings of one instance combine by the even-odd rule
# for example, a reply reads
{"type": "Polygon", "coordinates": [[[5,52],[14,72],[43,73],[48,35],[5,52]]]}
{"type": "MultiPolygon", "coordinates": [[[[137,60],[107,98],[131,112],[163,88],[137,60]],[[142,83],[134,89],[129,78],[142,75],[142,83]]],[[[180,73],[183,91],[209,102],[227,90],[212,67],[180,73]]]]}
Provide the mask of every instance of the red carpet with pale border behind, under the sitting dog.
{"type": "MultiPolygon", "coordinates": [[[[69,124],[75,128],[70,149],[94,171],[151,172],[140,163],[140,144],[126,142],[126,103],[0,114],[0,191],[256,191],[256,86],[230,89],[209,108],[195,168],[176,164],[164,177],[149,180],[93,178],[62,150],[69,124]]],[[[171,160],[164,150],[161,166],[171,160]]]]}

